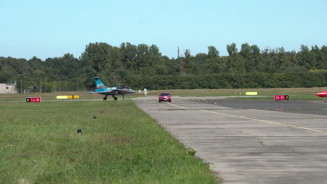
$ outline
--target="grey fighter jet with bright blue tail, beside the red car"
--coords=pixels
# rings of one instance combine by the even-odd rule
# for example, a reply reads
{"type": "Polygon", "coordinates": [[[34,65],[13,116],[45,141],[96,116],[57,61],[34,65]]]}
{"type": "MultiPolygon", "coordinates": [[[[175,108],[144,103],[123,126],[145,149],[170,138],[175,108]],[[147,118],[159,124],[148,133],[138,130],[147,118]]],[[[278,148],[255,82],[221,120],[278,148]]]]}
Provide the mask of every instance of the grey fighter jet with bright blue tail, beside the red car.
{"type": "Polygon", "coordinates": [[[115,97],[115,95],[122,95],[124,100],[126,94],[135,93],[133,89],[129,88],[129,86],[125,86],[124,84],[117,84],[116,87],[107,87],[105,86],[105,84],[103,84],[100,77],[94,77],[94,79],[96,83],[95,91],[84,92],[84,93],[88,93],[88,94],[97,93],[97,94],[105,95],[103,100],[107,100],[108,95],[112,95],[112,98],[114,98],[114,100],[117,100],[117,97],[115,97]]]}

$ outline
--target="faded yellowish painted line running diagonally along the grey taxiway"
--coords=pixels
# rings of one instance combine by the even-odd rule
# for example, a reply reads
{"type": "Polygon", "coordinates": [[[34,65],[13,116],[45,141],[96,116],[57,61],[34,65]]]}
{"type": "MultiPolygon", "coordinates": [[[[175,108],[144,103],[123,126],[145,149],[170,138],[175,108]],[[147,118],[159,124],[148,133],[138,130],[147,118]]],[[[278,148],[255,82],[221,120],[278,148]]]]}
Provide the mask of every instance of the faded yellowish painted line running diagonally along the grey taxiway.
{"type": "MultiPolygon", "coordinates": [[[[175,107],[182,108],[182,109],[188,109],[186,107],[175,105],[173,103],[168,103],[168,104],[169,105],[173,105],[175,107]]],[[[253,121],[261,121],[263,123],[271,123],[271,124],[275,124],[275,125],[281,125],[281,126],[290,127],[290,128],[297,128],[297,129],[301,129],[301,130],[307,130],[307,131],[317,132],[317,133],[321,133],[321,134],[327,135],[327,132],[323,132],[323,131],[319,131],[319,130],[314,130],[314,129],[311,129],[311,128],[299,127],[299,126],[294,126],[294,125],[287,125],[287,124],[284,124],[284,123],[277,123],[277,122],[273,122],[273,121],[266,121],[266,120],[257,119],[257,118],[249,118],[249,117],[245,117],[245,116],[237,116],[237,115],[226,114],[226,113],[221,113],[221,112],[212,112],[212,111],[208,111],[208,110],[201,110],[201,111],[202,112],[209,112],[209,113],[212,113],[212,114],[220,114],[220,115],[224,115],[224,116],[232,116],[232,117],[237,117],[237,118],[245,118],[245,119],[249,119],[249,120],[253,120],[253,121]]]]}

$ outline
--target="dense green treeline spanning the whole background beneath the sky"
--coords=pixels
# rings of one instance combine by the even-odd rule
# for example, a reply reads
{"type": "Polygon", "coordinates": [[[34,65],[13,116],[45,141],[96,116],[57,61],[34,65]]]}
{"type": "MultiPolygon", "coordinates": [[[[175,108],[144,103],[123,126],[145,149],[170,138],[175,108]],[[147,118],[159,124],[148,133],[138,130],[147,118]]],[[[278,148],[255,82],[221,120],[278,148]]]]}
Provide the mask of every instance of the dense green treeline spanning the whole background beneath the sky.
{"type": "MultiPolygon", "coordinates": [[[[0,57],[0,83],[22,82],[22,89],[41,86],[43,92],[90,90],[95,75],[108,86],[127,83],[134,89],[231,89],[327,86],[327,47],[300,45],[260,49],[235,43],[220,56],[214,46],[193,56],[189,49],[176,59],[162,56],[156,45],[119,47],[90,43],[80,58],[73,54],[33,59],[0,57]],[[59,86],[60,85],[60,86],[59,86]]],[[[20,89],[20,88],[17,88],[20,89]]]]}

